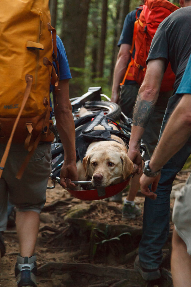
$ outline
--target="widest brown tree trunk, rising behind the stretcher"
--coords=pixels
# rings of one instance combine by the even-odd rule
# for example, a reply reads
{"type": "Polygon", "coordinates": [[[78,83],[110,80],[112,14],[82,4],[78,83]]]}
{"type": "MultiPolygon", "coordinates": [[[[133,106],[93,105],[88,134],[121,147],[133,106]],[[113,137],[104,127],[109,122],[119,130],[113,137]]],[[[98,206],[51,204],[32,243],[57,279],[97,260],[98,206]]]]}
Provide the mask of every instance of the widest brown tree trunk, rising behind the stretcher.
{"type": "Polygon", "coordinates": [[[84,92],[83,68],[89,3],[90,0],[64,1],[61,39],[64,43],[73,78],[70,82],[71,97],[80,96],[84,92]]]}

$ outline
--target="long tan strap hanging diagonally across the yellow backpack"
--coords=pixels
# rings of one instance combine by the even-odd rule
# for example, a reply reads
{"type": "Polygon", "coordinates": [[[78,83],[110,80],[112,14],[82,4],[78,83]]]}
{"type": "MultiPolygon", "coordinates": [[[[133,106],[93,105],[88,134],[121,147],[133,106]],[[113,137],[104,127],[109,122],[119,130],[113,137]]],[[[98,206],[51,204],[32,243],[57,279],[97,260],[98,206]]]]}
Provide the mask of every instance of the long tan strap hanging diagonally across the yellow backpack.
{"type": "Polygon", "coordinates": [[[13,129],[11,131],[11,135],[9,137],[9,140],[7,142],[7,146],[5,148],[5,152],[4,152],[3,157],[1,159],[1,163],[0,163],[0,178],[1,178],[1,175],[2,175],[2,172],[3,172],[3,169],[5,167],[5,162],[7,160],[7,156],[9,154],[9,150],[10,150],[10,147],[11,147],[11,143],[12,143],[12,140],[13,140],[15,129],[17,127],[17,124],[18,124],[19,119],[21,117],[21,113],[22,113],[22,111],[23,111],[23,109],[25,107],[25,104],[27,102],[27,99],[28,99],[30,91],[31,91],[33,76],[32,75],[26,75],[25,76],[25,80],[26,80],[27,86],[26,86],[25,93],[24,93],[24,96],[23,96],[23,101],[22,101],[22,104],[21,104],[21,108],[19,110],[19,113],[18,113],[17,118],[15,120],[15,123],[13,125],[13,129]]]}

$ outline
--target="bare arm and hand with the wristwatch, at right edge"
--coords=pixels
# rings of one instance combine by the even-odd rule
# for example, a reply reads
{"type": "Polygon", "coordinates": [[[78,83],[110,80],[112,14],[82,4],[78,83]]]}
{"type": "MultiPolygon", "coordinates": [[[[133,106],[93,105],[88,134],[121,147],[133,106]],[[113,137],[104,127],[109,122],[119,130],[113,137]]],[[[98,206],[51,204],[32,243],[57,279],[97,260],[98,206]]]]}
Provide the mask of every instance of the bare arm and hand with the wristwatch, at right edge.
{"type": "MultiPolygon", "coordinates": [[[[180,150],[191,135],[191,94],[185,94],[174,112],[168,120],[168,123],[162,133],[162,137],[155,148],[151,157],[149,167],[151,171],[155,172],[162,168],[162,166],[180,150]]],[[[155,199],[154,192],[160,175],[157,177],[147,177],[145,174],[140,179],[141,192],[146,196],[155,199]],[[149,191],[148,186],[152,184],[152,192],[149,191]]]]}

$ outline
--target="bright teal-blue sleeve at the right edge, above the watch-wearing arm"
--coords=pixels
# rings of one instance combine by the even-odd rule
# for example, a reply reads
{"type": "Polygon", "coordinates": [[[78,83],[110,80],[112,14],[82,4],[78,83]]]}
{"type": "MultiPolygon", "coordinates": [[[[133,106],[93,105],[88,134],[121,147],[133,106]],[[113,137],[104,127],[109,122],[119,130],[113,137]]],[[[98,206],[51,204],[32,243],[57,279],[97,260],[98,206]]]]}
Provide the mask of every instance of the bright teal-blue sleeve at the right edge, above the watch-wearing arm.
{"type": "Polygon", "coordinates": [[[191,94],[191,54],[176,94],[191,94]]]}

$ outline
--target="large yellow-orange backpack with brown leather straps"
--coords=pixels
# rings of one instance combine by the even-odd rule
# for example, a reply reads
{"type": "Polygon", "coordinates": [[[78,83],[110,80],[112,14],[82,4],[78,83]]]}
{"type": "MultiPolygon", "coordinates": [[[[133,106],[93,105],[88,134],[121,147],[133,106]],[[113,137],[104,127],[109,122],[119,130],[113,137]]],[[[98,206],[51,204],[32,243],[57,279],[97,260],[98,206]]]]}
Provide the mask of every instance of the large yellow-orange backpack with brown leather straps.
{"type": "Polygon", "coordinates": [[[58,87],[52,68],[56,30],[50,25],[48,0],[1,0],[0,23],[0,144],[7,144],[0,177],[11,142],[24,143],[29,153],[20,179],[39,141],[54,139],[49,90],[50,81],[58,87]]]}

